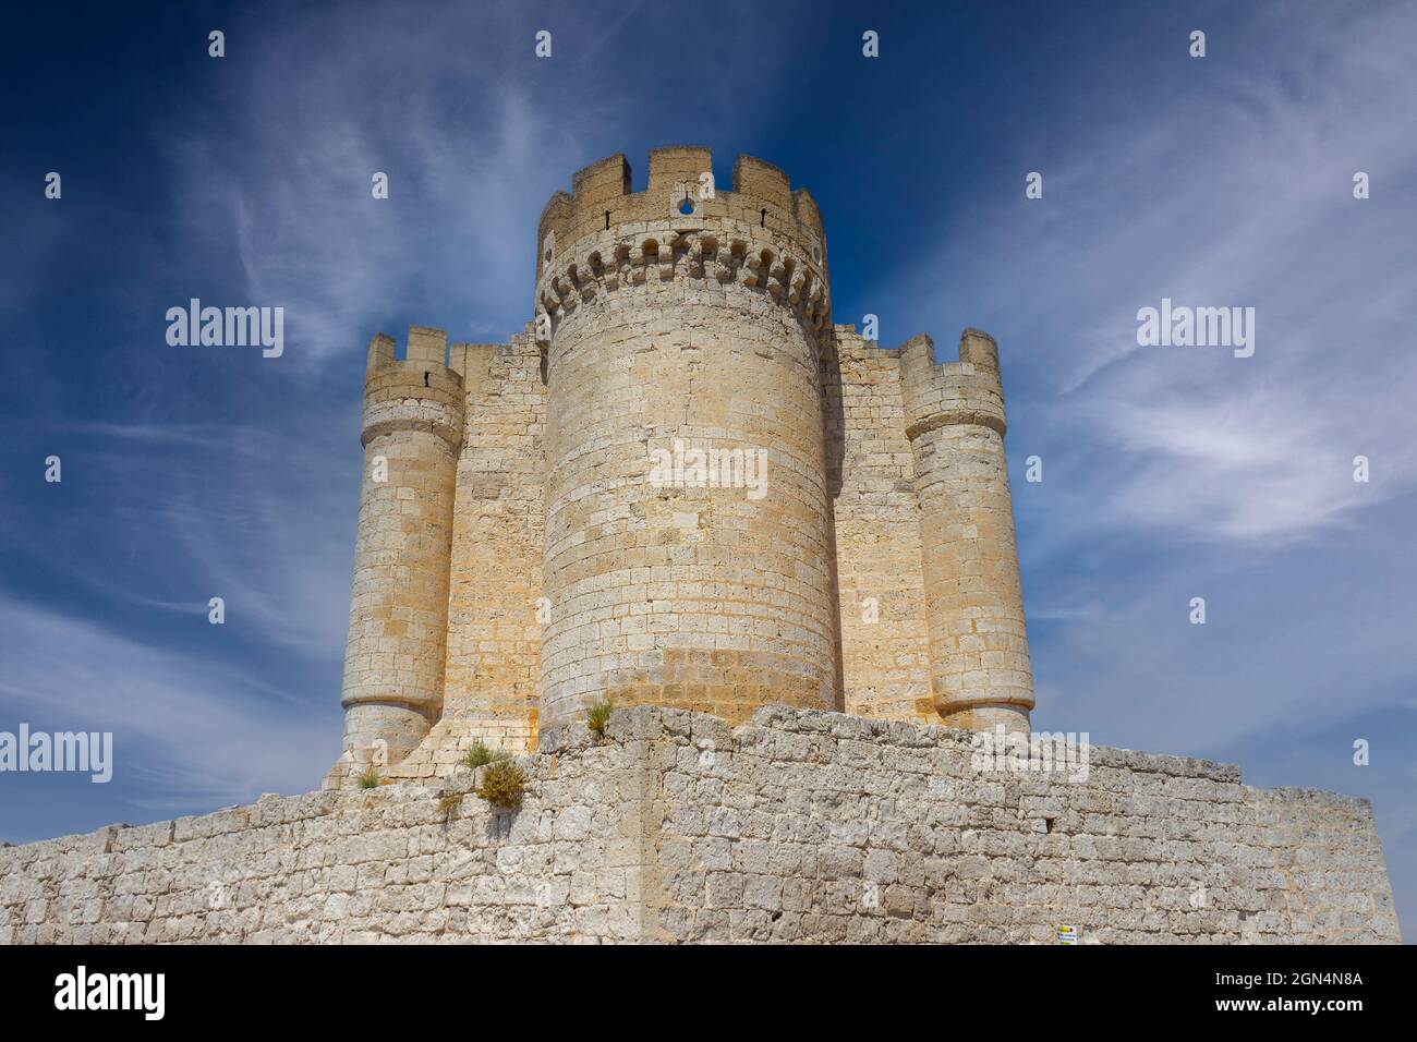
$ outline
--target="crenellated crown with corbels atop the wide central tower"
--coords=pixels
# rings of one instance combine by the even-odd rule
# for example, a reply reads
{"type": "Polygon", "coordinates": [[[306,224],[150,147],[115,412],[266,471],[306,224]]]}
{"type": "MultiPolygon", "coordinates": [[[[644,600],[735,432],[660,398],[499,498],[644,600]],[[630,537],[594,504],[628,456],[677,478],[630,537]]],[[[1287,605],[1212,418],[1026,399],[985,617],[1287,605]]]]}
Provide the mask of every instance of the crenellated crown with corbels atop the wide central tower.
{"type": "Polygon", "coordinates": [[[536,308],[554,326],[582,303],[650,281],[717,279],[792,308],[819,333],[830,322],[822,215],[805,189],[762,160],[740,156],[733,189],[714,186],[703,147],[655,149],[649,187],[629,191],[616,155],[585,167],[570,194],[541,214],[536,308]]]}

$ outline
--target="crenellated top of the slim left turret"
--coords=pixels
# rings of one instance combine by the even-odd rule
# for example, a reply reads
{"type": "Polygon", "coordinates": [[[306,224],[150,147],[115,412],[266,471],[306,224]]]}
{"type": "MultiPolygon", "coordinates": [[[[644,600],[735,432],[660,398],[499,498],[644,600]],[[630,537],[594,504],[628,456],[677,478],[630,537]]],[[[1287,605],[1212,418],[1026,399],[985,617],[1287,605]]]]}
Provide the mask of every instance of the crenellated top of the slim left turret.
{"type": "Polygon", "coordinates": [[[448,362],[448,333],[410,326],[404,357],[394,357],[394,337],[377,333],[364,369],[364,428],[361,444],[391,431],[432,431],[453,448],[462,442],[463,366],[468,344],[453,344],[448,362]]]}

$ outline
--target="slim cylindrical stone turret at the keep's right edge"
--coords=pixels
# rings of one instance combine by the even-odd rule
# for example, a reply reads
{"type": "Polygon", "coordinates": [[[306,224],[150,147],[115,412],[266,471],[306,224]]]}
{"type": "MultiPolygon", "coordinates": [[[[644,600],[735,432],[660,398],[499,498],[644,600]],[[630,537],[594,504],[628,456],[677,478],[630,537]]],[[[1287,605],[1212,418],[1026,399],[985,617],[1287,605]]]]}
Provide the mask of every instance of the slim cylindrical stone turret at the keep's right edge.
{"type": "Polygon", "coordinates": [[[901,349],[907,437],[920,499],[930,672],[954,727],[1029,730],[1033,669],[1003,455],[1003,384],[993,337],[966,329],[959,362],[901,349]]]}

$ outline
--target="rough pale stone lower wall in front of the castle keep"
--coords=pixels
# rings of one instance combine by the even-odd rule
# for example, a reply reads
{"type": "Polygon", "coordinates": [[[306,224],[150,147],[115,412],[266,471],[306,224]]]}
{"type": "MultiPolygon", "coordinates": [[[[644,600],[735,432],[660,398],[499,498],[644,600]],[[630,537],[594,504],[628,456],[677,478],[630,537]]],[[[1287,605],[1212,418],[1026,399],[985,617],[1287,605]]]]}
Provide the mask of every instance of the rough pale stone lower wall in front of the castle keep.
{"type": "Polygon", "coordinates": [[[971,737],[769,706],[618,709],[435,784],[0,849],[0,941],[1399,941],[1366,801],[1115,749],[982,771],[971,737]],[[1068,780],[1074,777],[1076,780],[1068,780]]]}

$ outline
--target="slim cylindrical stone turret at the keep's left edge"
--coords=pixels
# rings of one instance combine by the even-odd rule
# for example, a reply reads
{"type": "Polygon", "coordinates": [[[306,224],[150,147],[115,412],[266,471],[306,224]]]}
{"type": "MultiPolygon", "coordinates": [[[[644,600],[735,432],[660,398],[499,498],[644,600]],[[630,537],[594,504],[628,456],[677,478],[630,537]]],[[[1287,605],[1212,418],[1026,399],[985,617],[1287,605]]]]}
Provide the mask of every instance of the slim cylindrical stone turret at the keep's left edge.
{"type": "Polygon", "coordinates": [[[370,343],[364,379],[364,482],[344,652],[344,749],[398,763],[438,719],[448,637],[453,486],[462,377],[448,335],[408,330],[370,343]]]}

